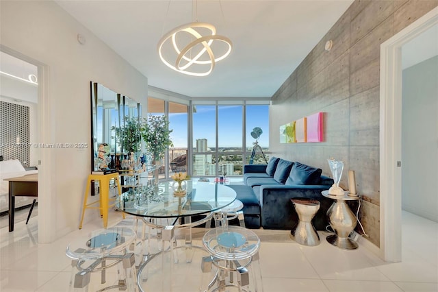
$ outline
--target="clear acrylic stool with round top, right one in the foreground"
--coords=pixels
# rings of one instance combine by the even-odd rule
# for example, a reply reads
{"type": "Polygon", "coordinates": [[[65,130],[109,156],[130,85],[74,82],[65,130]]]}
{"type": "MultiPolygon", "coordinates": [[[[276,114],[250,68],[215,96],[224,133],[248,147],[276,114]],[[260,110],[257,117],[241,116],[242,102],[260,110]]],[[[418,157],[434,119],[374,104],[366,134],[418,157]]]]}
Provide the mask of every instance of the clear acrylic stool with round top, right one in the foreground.
{"type": "Polygon", "coordinates": [[[201,269],[213,272],[206,291],[263,291],[257,234],[240,226],[222,226],[205,233],[203,246],[210,256],[203,258],[201,269]]]}

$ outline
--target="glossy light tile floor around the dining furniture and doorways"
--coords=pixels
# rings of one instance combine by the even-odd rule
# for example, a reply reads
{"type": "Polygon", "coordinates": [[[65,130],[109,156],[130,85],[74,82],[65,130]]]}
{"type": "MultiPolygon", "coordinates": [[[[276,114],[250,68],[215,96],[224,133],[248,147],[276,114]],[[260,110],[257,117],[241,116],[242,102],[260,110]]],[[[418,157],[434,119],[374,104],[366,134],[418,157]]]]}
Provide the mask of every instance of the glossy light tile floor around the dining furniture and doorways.
{"type": "MultiPolygon", "coordinates": [[[[110,219],[115,225],[120,214],[110,219]]],[[[96,219],[54,243],[38,244],[36,222],[31,220],[27,226],[18,222],[14,232],[1,228],[1,292],[68,291],[71,267],[66,246],[101,228],[101,219],[96,219]]],[[[408,212],[402,212],[401,263],[385,263],[363,246],[340,250],[325,241],[325,232],[320,232],[322,240],[316,247],[298,245],[287,230],[257,233],[262,239],[259,254],[265,292],[438,291],[438,223],[408,212]]]]}

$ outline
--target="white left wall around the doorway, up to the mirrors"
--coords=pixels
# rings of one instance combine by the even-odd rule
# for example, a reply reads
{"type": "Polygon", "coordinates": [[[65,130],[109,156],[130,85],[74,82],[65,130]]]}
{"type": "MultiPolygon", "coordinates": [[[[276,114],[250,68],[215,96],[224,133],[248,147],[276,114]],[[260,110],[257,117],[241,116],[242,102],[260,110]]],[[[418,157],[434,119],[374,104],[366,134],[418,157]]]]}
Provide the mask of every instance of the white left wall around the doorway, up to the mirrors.
{"type": "MultiPolygon", "coordinates": [[[[50,141],[44,143],[90,143],[90,81],[99,82],[146,104],[147,78],[112,49],[77,23],[53,1],[0,1],[0,34],[3,49],[37,60],[49,69],[47,95],[50,141]],[[77,42],[77,34],[86,44],[77,42]]],[[[46,151],[46,150],[44,150],[46,151]]],[[[55,238],[76,230],[91,149],[49,149],[53,164],[51,226],[55,238]]],[[[47,153],[47,152],[45,152],[47,153]]],[[[40,199],[40,204],[44,200],[40,199]]],[[[86,212],[86,221],[96,214],[86,212]],[[91,216],[92,215],[92,216],[91,216]]],[[[38,222],[41,222],[38,220],[38,222]]],[[[40,228],[40,226],[39,226],[40,228]]]]}

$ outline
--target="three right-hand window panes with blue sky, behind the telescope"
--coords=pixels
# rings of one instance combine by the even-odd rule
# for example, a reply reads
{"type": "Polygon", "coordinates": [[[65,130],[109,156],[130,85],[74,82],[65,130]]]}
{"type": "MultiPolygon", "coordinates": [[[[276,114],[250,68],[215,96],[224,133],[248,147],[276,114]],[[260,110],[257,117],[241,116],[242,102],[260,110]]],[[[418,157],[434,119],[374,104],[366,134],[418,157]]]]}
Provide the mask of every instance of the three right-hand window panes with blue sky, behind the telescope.
{"type": "Polygon", "coordinates": [[[269,155],[267,101],[193,101],[192,108],[192,175],[242,175],[245,164],[266,163],[269,155]],[[265,131],[257,139],[250,134],[254,127],[265,131]],[[252,155],[254,147],[256,151],[252,155]]]}

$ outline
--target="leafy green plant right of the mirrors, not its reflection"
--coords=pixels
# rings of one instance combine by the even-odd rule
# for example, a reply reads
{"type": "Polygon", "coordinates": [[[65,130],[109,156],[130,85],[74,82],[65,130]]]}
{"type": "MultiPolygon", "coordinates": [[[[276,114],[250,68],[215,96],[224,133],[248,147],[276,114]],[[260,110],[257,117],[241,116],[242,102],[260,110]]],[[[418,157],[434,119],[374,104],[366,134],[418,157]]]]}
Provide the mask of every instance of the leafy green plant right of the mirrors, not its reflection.
{"type": "Polygon", "coordinates": [[[173,146],[170,139],[169,121],[165,116],[154,116],[149,114],[149,117],[144,118],[141,130],[142,138],[146,143],[146,149],[153,157],[153,162],[157,162],[164,158],[167,147],[173,146]]]}

